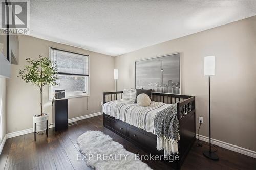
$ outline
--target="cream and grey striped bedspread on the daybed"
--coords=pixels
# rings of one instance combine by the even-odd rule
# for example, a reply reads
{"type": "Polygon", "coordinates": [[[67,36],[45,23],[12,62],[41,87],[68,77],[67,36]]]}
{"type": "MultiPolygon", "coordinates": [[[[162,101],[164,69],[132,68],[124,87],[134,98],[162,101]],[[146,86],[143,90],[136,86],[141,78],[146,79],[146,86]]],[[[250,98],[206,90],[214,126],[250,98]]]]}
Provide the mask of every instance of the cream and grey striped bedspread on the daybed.
{"type": "Polygon", "coordinates": [[[151,102],[148,107],[139,106],[137,103],[126,99],[110,101],[102,106],[102,111],[116,119],[122,120],[130,125],[136,126],[147,132],[156,134],[155,132],[155,116],[156,114],[171,106],[162,102],[151,102]]]}

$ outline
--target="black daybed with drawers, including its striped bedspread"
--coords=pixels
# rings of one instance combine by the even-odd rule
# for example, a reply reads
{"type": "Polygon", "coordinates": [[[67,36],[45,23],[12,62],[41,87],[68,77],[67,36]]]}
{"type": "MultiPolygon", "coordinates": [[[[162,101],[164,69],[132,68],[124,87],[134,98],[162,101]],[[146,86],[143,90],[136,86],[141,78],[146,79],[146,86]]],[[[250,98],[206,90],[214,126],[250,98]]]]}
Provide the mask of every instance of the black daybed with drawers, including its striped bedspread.
{"type": "Polygon", "coordinates": [[[103,93],[103,125],[153,155],[163,155],[163,151],[156,149],[155,115],[177,102],[179,160],[165,163],[174,169],[180,169],[195,140],[195,96],[152,92],[151,105],[141,107],[122,99],[122,93],[103,93]],[[147,116],[138,113],[147,113],[147,116]]]}

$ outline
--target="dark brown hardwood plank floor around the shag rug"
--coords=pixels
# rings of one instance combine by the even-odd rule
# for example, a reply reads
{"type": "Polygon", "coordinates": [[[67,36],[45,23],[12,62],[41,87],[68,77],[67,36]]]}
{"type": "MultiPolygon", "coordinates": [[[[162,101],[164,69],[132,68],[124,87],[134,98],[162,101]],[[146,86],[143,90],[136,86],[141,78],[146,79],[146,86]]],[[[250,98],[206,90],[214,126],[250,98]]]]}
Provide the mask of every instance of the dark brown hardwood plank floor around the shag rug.
{"type": "MultiPolygon", "coordinates": [[[[133,153],[148,155],[133,144],[103,127],[102,116],[84,119],[69,126],[63,132],[55,133],[49,129],[49,136],[33,133],[7,139],[0,155],[0,169],[90,169],[84,161],[77,161],[78,145],[76,139],[84,131],[99,130],[110,135],[133,153]]],[[[256,169],[256,159],[218,147],[219,161],[212,161],[202,155],[207,146],[193,148],[189,152],[182,168],[185,169],[256,169]]],[[[169,169],[160,161],[143,161],[152,169],[169,169]]]]}

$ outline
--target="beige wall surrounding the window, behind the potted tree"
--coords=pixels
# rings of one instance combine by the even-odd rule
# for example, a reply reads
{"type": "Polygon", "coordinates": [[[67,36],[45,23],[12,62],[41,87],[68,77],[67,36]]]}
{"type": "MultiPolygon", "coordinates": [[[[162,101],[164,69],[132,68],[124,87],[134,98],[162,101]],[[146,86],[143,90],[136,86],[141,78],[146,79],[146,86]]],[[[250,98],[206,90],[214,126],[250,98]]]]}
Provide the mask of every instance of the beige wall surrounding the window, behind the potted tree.
{"type": "MultiPolygon", "coordinates": [[[[40,93],[37,87],[22,81],[18,70],[27,64],[25,59],[48,56],[49,46],[62,50],[90,55],[90,96],[69,99],[69,118],[102,111],[100,102],[104,91],[113,91],[114,57],[82,50],[80,48],[46,41],[30,36],[19,36],[19,64],[12,65],[11,79],[7,79],[7,133],[32,128],[32,117],[40,113],[40,93]],[[88,99],[88,108],[87,108],[88,99]]],[[[52,123],[51,101],[48,100],[48,86],[43,90],[43,112],[49,114],[52,123]]]]}

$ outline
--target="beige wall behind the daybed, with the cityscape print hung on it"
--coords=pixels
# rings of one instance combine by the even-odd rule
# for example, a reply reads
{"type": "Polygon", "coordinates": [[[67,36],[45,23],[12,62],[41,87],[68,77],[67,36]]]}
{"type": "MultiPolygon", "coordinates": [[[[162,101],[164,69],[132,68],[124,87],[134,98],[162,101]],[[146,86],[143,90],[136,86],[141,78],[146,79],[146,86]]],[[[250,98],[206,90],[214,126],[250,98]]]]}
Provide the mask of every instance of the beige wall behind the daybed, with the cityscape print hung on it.
{"type": "MultiPolygon", "coordinates": [[[[171,31],[171,30],[170,30],[171,31]]],[[[181,89],[196,96],[196,124],[208,136],[208,79],[204,57],[215,55],[211,78],[212,138],[256,151],[256,17],[115,57],[118,90],[134,88],[135,61],[181,53],[181,89]]]]}

